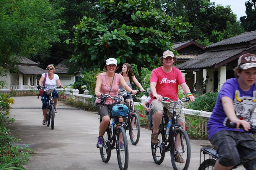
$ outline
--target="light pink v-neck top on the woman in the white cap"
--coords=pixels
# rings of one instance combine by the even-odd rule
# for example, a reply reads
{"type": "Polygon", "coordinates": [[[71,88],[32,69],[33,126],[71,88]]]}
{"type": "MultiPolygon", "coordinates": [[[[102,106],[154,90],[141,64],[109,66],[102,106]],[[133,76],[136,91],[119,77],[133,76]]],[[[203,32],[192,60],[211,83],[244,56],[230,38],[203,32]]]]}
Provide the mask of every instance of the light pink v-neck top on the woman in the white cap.
{"type": "MultiPolygon", "coordinates": [[[[99,92],[103,93],[103,94],[108,94],[109,90],[111,88],[111,91],[109,93],[110,96],[114,97],[117,96],[117,91],[119,89],[119,82],[120,82],[120,77],[122,76],[121,74],[117,74],[114,73],[115,77],[112,83],[112,88],[111,86],[108,84],[108,80],[106,78],[106,72],[100,73],[99,75],[97,75],[97,79],[101,79],[102,80],[102,84],[101,84],[101,88],[99,89],[99,92]]],[[[96,99],[95,103],[100,103],[101,99],[96,99]]],[[[107,98],[106,100],[106,104],[112,104],[114,103],[114,101],[111,98],[107,98]]]]}

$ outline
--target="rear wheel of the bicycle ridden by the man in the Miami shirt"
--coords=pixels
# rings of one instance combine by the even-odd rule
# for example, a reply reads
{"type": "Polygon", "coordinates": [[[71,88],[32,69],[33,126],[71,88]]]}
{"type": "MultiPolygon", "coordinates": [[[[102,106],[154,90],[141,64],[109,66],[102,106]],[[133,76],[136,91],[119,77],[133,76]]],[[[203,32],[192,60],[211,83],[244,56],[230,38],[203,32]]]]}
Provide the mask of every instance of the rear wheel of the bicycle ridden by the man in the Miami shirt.
{"type": "Polygon", "coordinates": [[[158,132],[157,144],[151,143],[152,156],[156,164],[161,164],[165,159],[165,132],[158,132]]]}

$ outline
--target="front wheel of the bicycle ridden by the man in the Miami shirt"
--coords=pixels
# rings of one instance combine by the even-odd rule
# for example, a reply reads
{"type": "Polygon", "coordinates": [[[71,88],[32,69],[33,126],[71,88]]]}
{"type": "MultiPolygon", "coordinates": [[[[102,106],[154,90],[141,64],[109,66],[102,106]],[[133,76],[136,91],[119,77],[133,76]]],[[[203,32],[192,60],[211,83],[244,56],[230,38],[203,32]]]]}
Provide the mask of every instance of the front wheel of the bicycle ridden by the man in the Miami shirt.
{"type": "Polygon", "coordinates": [[[176,128],[176,149],[171,140],[171,164],[174,170],[187,170],[189,167],[191,149],[188,134],[181,128],[176,128]]]}

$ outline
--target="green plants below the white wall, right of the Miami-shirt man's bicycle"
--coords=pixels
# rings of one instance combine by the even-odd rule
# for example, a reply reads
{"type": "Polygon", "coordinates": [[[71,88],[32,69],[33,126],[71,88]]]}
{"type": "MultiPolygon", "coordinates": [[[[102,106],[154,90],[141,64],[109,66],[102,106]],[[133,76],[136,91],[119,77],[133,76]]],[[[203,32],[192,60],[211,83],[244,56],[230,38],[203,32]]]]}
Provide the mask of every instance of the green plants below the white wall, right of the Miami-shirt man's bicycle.
{"type": "Polygon", "coordinates": [[[202,124],[205,119],[200,117],[200,113],[194,113],[194,115],[185,115],[186,118],[186,132],[188,133],[189,139],[196,140],[208,140],[208,134],[202,132],[204,127],[202,124]]]}

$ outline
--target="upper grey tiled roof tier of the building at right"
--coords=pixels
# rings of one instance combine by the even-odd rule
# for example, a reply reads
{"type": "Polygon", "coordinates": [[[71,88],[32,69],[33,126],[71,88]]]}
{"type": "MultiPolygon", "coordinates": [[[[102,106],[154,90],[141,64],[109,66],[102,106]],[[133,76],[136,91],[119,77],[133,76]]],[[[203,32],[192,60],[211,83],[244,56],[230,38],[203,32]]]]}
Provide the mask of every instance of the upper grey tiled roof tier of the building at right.
{"type": "Polygon", "coordinates": [[[256,40],[256,31],[244,32],[244,33],[236,35],[234,37],[227,38],[227,39],[222,40],[220,42],[209,45],[205,48],[207,49],[207,48],[212,48],[212,47],[234,45],[234,44],[238,44],[238,43],[249,42],[251,40],[256,40]]]}

